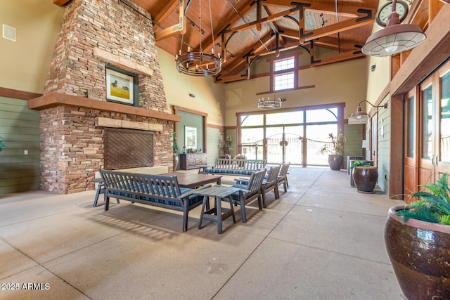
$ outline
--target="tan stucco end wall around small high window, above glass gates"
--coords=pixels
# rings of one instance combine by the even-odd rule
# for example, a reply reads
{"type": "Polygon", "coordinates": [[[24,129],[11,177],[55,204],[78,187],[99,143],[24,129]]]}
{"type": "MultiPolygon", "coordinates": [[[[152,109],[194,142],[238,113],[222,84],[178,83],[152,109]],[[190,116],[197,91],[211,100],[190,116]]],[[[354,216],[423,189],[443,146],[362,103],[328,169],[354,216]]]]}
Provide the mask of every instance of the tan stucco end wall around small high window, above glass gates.
{"type": "Polygon", "coordinates": [[[366,98],[366,84],[366,59],[300,70],[299,86],[314,85],[308,89],[257,96],[259,92],[269,91],[269,77],[225,84],[225,126],[236,125],[237,112],[257,110],[257,99],[262,96],[286,98],[283,108],[344,102],[344,116],[347,118],[356,111],[359,101],[366,98]]]}

